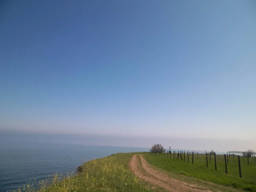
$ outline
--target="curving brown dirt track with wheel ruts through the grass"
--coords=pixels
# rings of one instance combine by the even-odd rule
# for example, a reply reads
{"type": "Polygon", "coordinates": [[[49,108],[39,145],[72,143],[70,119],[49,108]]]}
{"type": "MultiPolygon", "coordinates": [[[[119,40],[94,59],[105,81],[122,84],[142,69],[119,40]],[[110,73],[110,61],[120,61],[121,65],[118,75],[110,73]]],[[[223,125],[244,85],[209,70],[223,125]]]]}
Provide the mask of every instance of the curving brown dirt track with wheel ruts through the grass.
{"type": "Polygon", "coordinates": [[[134,172],[135,175],[137,175],[141,179],[148,181],[153,185],[163,187],[171,192],[211,192],[209,190],[200,189],[201,187],[197,185],[192,185],[177,179],[173,179],[162,172],[152,169],[141,155],[140,161],[143,170],[140,170],[138,168],[139,162],[137,160],[137,155],[134,155],[131,158],[131,170],[134,172]]]}

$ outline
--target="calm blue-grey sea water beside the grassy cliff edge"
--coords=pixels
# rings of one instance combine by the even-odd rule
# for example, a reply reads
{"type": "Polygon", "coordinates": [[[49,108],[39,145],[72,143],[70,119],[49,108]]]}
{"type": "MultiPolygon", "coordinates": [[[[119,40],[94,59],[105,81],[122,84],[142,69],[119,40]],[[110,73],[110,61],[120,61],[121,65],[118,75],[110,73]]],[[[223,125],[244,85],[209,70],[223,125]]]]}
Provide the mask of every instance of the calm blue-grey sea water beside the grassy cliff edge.
{"type": "Polygon", "coordinates": [[[147,148],[66,144],[0,143],[0,192],[17,189],[27,180],[42,180],[55,172],[73,172],[83,162],[117,152],[147,148]]]}

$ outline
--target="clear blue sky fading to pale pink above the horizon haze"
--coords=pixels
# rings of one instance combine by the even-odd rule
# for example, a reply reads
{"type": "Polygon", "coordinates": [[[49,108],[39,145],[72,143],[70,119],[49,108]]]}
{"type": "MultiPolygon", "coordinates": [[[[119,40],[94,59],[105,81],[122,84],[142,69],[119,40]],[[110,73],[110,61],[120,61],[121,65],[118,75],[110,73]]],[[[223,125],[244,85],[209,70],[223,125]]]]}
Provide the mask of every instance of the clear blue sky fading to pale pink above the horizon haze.
{"type": "Polygon", "coordinates": [[[0,131],[256,149],[255,34],[253,0],[1,1],[0,131]]]}

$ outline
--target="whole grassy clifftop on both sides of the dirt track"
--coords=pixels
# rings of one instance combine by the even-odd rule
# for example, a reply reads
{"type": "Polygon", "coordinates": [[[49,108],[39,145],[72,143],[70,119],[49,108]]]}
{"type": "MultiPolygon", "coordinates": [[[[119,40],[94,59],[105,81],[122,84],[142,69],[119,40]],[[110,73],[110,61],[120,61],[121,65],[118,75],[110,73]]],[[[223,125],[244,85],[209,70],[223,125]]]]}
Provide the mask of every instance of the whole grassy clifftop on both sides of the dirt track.
{"type": "MultiPolygon", "coordinates": [[[[205,155],[195,155],[194,164],[192,156],[187,162],[166,156],[152,156],[148,153],[119,153],[111,156],[95,159],[84,163],[79,167],[79,174],[59,175],[42,180],[39,186],[29,182],[13,192],[159,192],[166,191],[163,188],[153,186],[139,179],[131,171],[129,161],[134,154],[142,154],[149,165],[170,177],[203,186],[212,191],[251,191],[256,192],[256,163],[250,159],[241,160],[242,178],[239,178],[237,159],[230,158],[227,166],[228,174],[225,174],[225,163],[223,156],[217,155],[217,171],[215,171],[214,160],[208,161],[206,167],[205,155]]],[[[176,154],[177,155],[177,154],[176,154]]],[[[139,156],[137,156],[139,157],[139,156]]],[[[142,168],[140,160],[138,169],[143,174],[148,174],[142,168]]],[[[148,175],[152,177],[152,175],[148,175]]]]}

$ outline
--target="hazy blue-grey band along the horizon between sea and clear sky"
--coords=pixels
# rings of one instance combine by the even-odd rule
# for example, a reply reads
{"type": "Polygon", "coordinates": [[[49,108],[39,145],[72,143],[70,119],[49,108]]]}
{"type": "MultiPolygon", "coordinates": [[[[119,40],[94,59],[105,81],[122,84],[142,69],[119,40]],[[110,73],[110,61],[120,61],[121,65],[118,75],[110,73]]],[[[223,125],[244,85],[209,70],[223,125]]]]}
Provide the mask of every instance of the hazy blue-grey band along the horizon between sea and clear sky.
{"type": "Polygon", "coordinates": [[[0,130],[0,141],[5,142],[32,142],[49,144],[78,144],[150,148],[154,143],[161,143],[166,150],[172,149],[197,151],[246,151],[255,149],[256,142],[248,140],[217,140],[207,138],[173,138],[147,137],[124,135],[68,135],[68,134],[32,134],[0,130]]]}

